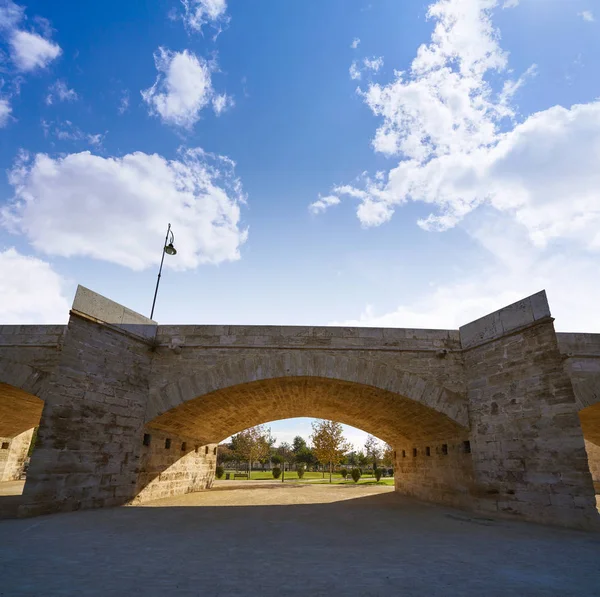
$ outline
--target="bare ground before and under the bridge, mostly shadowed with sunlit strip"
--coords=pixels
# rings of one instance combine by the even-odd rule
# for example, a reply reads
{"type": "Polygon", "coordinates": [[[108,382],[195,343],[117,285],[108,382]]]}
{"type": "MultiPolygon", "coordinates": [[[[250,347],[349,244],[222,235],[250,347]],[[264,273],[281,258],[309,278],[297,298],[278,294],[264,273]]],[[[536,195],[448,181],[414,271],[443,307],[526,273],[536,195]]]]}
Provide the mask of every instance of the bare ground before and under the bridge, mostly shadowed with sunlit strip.
{"type": "Polygon", "coordinates": [[[600,535],[281,484],[0,521],[3,596],[600,596],[600,535]]]}

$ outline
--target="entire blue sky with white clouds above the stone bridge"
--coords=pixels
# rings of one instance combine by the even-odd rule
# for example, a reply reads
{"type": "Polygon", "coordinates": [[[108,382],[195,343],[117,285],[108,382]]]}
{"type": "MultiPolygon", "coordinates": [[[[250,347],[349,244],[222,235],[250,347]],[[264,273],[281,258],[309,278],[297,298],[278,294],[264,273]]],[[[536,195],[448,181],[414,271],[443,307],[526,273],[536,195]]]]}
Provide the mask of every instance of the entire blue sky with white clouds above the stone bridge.
{"type": "Polygon", "coordinates": [[[3,322],[600,332],[597,0],[0,7],[3,322]]]}

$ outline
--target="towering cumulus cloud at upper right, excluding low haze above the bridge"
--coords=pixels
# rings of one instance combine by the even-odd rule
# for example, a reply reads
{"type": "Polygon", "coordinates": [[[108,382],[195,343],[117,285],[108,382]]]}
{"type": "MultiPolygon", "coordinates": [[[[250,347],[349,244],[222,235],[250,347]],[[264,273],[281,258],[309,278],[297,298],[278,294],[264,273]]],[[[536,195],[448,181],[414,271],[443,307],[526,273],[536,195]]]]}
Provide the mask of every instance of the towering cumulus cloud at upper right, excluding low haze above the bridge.
{"type": "Polygon", "coordinates": [[[511,213],[535,244],[567,237],[599,248],[600,103],[556,106],[503,130],[502,120],[515,118],[511,98],[534,68],[498,94],[486,82],[507,66],[491,22],[496,4],[441,0],[429,8],[432,41],[410,72],[363,93],[382,120],[374,149],[400,162],[384,179],[334,192],[359,199],[367,226],[409,200],[431,204],[435,211],[419,224],[441,230],[487,204],[511,213]]]}

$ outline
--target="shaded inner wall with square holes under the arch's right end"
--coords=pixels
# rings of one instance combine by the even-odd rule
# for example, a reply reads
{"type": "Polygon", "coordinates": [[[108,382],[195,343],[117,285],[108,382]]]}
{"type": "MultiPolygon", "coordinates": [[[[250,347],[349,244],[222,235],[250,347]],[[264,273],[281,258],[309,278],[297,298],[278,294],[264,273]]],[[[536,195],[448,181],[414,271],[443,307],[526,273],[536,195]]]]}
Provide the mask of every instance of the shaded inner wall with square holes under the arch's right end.
{"type": "Polygon", "coordinates": [[[464,437],[405,441],[395,446],[396,491],[458,508],[472,506],[473,463],[464,437]]]}

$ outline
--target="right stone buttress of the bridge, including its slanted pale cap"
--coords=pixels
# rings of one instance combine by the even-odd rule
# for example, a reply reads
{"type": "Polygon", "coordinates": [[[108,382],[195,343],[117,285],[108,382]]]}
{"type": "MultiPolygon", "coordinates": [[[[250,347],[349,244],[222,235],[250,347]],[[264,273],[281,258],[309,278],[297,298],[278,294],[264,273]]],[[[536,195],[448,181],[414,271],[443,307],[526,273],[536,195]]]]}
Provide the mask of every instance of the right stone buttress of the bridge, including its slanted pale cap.
{"type": "Polygon", "coordinates": [[[547,524],[600,522],[573,388],[545,294],[461,328],[480,508],[547,524]]]}

